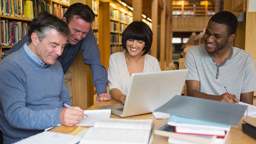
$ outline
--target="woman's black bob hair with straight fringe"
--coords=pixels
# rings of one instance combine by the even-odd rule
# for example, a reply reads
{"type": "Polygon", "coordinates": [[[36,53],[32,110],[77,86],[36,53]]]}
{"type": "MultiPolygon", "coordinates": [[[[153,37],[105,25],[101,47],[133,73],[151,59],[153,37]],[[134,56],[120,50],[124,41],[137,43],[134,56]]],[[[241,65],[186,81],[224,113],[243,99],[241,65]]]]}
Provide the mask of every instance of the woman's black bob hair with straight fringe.
{"type": "MultiPolygon", "coordinates": [[[[122,46],[127,51],[126,41],[128,39],[137,39],[145,42],[142,56],[146,55],[151,48],[153,41],[153,32],[150,27],[142,21],[134,21],[130,23],[122,33],[122,46]]],[[[128,52],[128,51],[127,51],[128,52]]]]}

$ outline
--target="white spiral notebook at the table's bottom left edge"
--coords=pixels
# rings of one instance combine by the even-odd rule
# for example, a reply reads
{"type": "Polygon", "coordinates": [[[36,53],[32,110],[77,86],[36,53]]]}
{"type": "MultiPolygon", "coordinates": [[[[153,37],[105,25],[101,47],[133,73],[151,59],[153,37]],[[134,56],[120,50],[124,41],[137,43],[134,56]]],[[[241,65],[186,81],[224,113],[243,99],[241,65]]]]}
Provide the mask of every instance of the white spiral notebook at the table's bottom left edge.
{"type": "Polygon", "coordinates": [[[80,140],[81,138],[76,135],[44,131],[42,133],[15,142],[14,144],[76,144],[80,140]]]}

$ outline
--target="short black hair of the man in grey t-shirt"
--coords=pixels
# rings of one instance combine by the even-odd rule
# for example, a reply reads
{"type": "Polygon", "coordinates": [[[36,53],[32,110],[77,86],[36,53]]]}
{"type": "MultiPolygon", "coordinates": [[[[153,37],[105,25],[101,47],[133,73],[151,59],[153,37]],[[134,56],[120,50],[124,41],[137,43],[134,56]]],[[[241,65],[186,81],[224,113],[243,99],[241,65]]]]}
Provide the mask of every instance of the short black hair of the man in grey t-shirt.
{"type": "Polygon", "coordinates": [[[238,21],[236,16],[231,12],[220,11],[214,14],[209,21],[226,25],[228,36],[236,33],[238,21]]]}

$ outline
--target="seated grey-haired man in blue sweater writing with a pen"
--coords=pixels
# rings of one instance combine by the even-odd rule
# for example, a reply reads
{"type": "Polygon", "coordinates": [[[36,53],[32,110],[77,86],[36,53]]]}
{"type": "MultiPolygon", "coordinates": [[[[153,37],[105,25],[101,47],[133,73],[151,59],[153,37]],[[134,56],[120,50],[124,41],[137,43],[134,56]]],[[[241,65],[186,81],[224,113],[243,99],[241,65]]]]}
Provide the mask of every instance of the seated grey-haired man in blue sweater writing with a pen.
{"type": "Polygon", "coordinates": [[[72,105],[59,61],[70,34],[67,24],[42,11],[30,23],[29,43],[0,62],[0,130],[9,144],[52,126],[73,126],[83,110],[72,105]]]}

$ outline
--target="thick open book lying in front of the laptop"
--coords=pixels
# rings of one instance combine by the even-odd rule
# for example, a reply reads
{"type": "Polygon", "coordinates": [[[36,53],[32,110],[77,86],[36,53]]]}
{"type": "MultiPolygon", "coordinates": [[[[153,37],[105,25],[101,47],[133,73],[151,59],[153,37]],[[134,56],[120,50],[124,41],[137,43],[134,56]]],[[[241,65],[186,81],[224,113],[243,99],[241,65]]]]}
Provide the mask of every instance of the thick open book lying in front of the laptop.
{"type": "Polygon", "coordinates": [[[80,141],[80,144],[148,144],[152,120],[102,119],[94,123],[80,141]]]}

